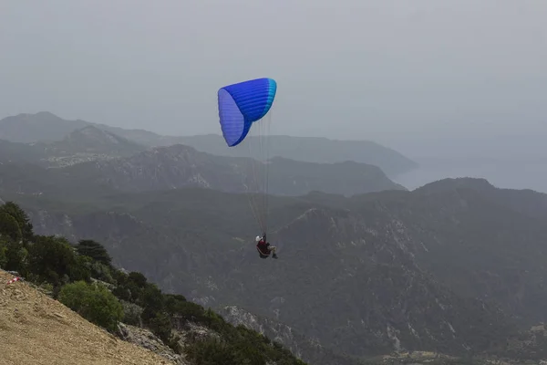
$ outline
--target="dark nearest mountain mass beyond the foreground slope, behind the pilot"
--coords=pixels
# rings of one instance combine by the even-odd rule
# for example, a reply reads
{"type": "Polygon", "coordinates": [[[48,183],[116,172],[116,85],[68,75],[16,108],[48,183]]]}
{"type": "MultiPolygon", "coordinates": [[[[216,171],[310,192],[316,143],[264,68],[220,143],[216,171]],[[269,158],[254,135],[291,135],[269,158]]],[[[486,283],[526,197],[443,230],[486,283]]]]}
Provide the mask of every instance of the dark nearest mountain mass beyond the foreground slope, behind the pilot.
{"type": "Polygon", "coordinates": [[[119,195],[98,202],[102,212],[70,214],[64,207],[57,218],[43,212],[50,217],[43,225],[39,215],[33,221],[48,234],[103,240],[119,264],[139,267],[161,287],[202,305],[250,308],[356,356],[395,349],[461,355],[464,347],[470,353],[497,349],[516,333],[514,324],[526,328],[542,320],[540,308],[527,299],[542,296],[541,287],[524,274],[512,280],[504,256],[519,258],[510,265],[517,272],[546,275],[537,245],[510,245],[521,233],[532,240],[523,242],[540,242],[543,225],[490,203],[491,194],[473,188],[478,181],[461,183],[457,189],[439,189],[449,186],[442,181],[415,192],[353,198],[272,197],[277,261],[259,261],[245,238],[255,232],[244,197],[207,189],[119,195]],[[500,232],[508,237],[503,245],[496,225],[507,231],[500,232]],[[465,255],[470,245],[458,245],[462,238],[477,247],[474,255],[465,255]],[[492,255],[496,245],[501,253],[492,255]],[[481,274],[487,270],[499,273],[481,274]],[[508,289],[500,292],[500,286],[508,289]],[[506,295],[511,290],[520,290],[518,303],[506,295]]]}

